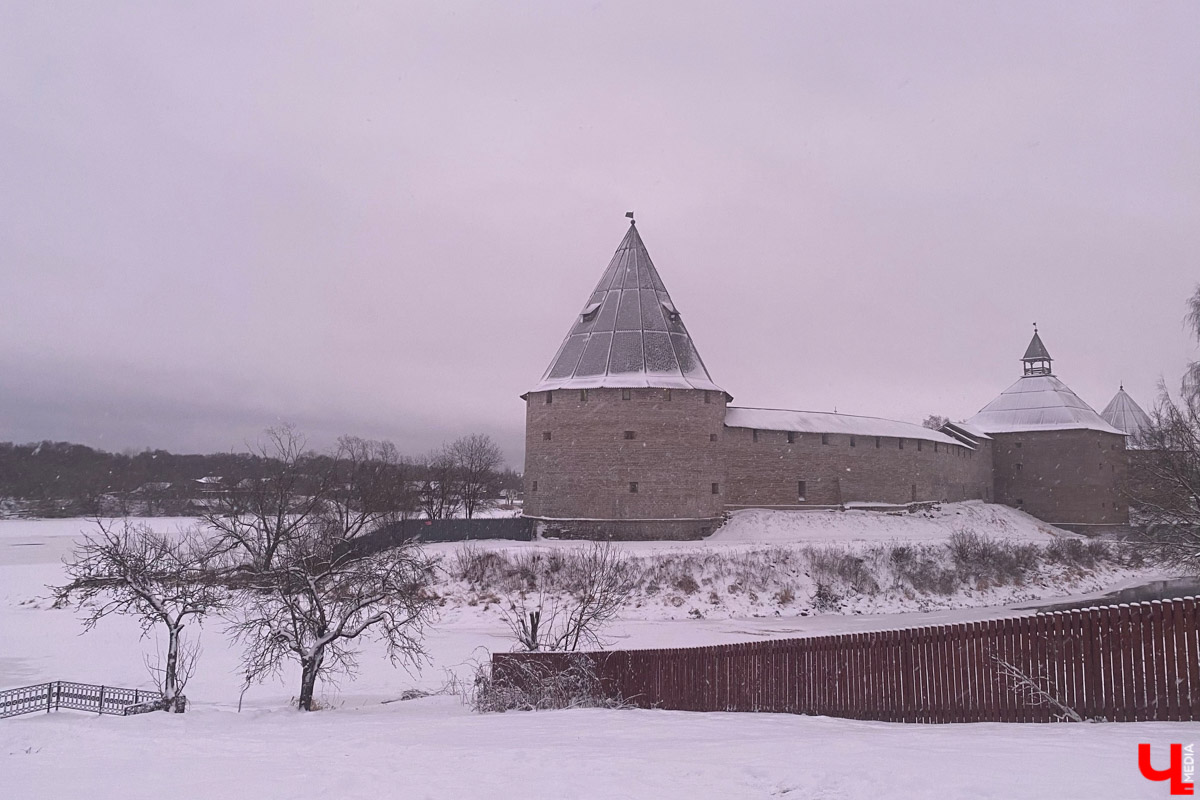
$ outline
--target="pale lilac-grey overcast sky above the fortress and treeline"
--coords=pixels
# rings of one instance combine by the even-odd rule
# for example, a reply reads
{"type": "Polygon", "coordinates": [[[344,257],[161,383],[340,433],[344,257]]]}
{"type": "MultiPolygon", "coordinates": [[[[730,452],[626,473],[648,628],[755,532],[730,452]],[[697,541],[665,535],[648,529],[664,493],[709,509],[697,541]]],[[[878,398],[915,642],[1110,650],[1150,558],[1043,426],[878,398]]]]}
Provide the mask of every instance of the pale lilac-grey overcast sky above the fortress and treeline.
{"type": "Polygon", "coordinates": [[[0,440],[520,467],[630,209],[737,404],[1195,355],[1196,2],[6,2],[0,104],[0,440]]]}

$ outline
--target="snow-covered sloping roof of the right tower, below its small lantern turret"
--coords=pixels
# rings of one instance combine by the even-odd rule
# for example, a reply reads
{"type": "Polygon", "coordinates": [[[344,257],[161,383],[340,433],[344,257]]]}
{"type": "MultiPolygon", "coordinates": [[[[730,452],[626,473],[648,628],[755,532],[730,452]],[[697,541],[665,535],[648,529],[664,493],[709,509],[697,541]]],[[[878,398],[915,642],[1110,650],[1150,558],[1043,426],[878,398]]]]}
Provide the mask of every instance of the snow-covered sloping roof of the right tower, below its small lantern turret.
{"type": "Polygon", "coordinates": [[[1054,375],[1025,375],[966,422],[985,433],[1103,431],[1123,434],[1054,375]]]}

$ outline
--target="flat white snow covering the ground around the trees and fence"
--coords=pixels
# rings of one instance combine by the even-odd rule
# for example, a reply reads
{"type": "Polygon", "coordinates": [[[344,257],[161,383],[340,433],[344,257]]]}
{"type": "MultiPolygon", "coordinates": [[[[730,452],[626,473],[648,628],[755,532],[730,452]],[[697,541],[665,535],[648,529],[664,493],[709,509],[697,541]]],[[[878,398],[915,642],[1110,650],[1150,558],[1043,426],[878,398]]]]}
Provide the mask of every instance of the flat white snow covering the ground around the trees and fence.
{"type": "MultiPolygon", "coordinates": [[[[628,547],[648,557],[842,540],[936,543],[961,524],[1021,541],[1055,534],[1016,512],[970,506],[948,506],[940,519],[742,512],[709,542],[628,547]],[[1002,518],[984,518],[994,513],[1002,518]]],[[[106,620],[80,634],[73,612],[52,609],[44,600],[46,584],[61,579],[59,561],[86,525],[0,522],[0,687],[54,679],[151,686],[143,660],[154,657],[156,645],[139,639],[132,621],[106,620]]],[[[434,549],[452,557],[451,546],[434,549]]],[[[494,606],[488,612],[470,606],[466,591],[443,608],[427,638],[431,661],[420,673],[394,668],[367,648],[358,680],[325,686],[326,710],[307,715],[289,706],[296,670],[250,687],[239,714],[238,652],[220,624],[205,625],[186,715],[59,711],[0,721],[0,798],[1157,798],[1166,796],[1166,786],[1139,775],[1136,745],[1154,745],[1160,758],[1169,742],[1200,739],[1194,724],[1183,723],[904,726],[644,710],[476,715],[451,696],[394,702],[409,688],[437,690],[446,670],[466,674],[486,649],[509,649],[494,606]]],[[[1052,594],[1046,588],[1043,596],[1052,594]]],[[[703,619],[666,619],[668,607],[679,610],[670,603],[626,609],[612,631],[616,646],[715,644],[1013,613],[977,607],[800,616],[780,609],[779,616],[752,616],[726,609],[703,619]]]]}

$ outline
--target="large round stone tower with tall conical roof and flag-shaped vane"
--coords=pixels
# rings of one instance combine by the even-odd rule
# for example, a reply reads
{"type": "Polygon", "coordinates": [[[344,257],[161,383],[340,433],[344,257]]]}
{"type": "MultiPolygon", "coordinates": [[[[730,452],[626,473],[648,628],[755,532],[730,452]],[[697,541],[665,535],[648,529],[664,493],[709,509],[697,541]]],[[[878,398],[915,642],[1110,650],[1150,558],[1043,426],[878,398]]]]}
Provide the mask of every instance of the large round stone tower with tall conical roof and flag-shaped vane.
{"type": "Polygon", "coordinates": [[[725,511],[731,397],[631,221],[526,401],[524,513],[560,535],[692,539],[725,511]]]}

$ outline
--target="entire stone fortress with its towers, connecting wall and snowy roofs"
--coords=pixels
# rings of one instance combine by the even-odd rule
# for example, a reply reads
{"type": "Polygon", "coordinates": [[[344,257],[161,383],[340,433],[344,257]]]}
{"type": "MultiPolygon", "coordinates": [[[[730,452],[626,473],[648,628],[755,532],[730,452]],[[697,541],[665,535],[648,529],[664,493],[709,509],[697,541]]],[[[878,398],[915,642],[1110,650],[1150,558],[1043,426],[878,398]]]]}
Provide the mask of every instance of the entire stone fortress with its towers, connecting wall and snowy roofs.
{"type": "Polygon", "coordinates": [[[631,222],[522,396],[524,516],[563,537],[696,539],[738,509],[977,499],[1081,531],[1128,524],[1126,438],[1145,414],[1122,390],[1105,409],[1118,423],[1102,419],[1054,375],[1036,327],[1021,361],[1015,384],[940,431],[732,407],[631,222]]]}

